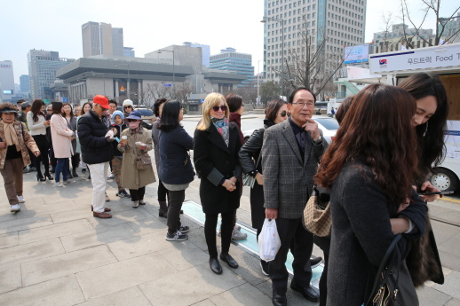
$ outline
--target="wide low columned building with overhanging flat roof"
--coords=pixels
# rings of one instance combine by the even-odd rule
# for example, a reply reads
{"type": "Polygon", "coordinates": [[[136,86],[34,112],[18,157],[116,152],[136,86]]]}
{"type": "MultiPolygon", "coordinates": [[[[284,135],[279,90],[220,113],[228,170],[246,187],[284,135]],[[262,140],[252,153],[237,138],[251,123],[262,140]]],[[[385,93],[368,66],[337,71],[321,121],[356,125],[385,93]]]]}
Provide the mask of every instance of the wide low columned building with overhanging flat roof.
{"type": "MultiPolygon", "coordinates": [[[[161,57],[155,59],[98,55],[76,59],[59,69],[56,76],[67,85],[67,101],[70,103],[80,104],[81,101],[103,94],[119,103],[130,98],[139,106],[152,106],[156,98],[162,97],[184,100],[191,93],[226,92],[233,90],[234,86],[245,79],[243,75],[212,69],[200,70],[197,74],[196,67],[202,67],[201,49],[196,49],[197,54],[194,57],[187,57],[181,48],[186,47],[171,48],[178,56],[174,64],[172,59],[161,57]],[[192,62],[193,58],[197,63],[192,62]]],[[[186,50],[189,51],[190,48],[186,50]]],[[[151,53],[163,56],[169,52],[162,49],[161,53],[151,53]]],[[[54,82],[52,90],[56,97],[67,94],[59,82],[54,82]]]]}

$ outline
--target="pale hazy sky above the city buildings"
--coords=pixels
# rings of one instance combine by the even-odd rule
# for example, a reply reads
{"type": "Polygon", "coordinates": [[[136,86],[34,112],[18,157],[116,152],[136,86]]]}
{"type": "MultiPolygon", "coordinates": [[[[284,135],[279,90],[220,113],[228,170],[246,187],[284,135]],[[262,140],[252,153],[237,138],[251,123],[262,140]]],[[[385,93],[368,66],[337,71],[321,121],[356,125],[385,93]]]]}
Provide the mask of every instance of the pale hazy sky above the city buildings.
{"type": "MultiPolygon", "coordinates": [[[[422,1],[408,2],[418,21],[422,1]]],[[[441,4],[441,12],[447,15],[458,0],[441,4]]],[[[59,51],[62,58],[78,59],[83,56],[82,24],[98,21],[123,27],[124,45],[133,47],[137,57],[188,41],[210,44],[211,54],[226,47],[250,53],[258,72],[258,60],[263,59],[263,24],[259,22],[263,5],[263,0],[4,0],[0,4],[0,60],[12,60],[14,79],[19,82],[20,75],[28,75],[31,49],[59,51]]],[[[397,16],[400,6],[400,0],[368,0],[366,42],[384,29],[382,14],[393,10],[397,16]]],[[[434,27],[432,18],[425,27],[434,27]]]]}

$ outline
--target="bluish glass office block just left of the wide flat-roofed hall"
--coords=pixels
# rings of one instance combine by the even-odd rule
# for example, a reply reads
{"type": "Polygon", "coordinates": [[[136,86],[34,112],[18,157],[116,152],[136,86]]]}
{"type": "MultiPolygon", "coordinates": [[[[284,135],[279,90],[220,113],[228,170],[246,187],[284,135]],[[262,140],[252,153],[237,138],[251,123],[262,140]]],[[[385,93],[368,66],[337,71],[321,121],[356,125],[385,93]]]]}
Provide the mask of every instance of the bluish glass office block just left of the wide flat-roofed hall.
{"type": "Polygon", "coordinates": [[[75,59],[59,58],[58,51],[28,51],[28,76],[31,98],[52,99],[50,85],[56,80],[56,71],[75,59]]]}

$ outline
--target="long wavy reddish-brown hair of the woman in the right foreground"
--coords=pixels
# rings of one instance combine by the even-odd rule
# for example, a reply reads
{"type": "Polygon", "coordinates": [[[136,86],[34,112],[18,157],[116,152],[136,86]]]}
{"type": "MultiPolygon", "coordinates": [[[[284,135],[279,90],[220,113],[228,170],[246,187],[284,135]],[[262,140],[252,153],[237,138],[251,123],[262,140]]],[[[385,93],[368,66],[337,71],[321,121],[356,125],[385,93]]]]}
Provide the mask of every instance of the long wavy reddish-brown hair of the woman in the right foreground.
{"type": "Polygon", "coordinates": [[[405,90],[383,84],[361,90],[322,157],[316,183],[330,188],[346,162],[361,161],[389,200],[405,202],[418,160],[415,113],[416,101],[405,90]]]}

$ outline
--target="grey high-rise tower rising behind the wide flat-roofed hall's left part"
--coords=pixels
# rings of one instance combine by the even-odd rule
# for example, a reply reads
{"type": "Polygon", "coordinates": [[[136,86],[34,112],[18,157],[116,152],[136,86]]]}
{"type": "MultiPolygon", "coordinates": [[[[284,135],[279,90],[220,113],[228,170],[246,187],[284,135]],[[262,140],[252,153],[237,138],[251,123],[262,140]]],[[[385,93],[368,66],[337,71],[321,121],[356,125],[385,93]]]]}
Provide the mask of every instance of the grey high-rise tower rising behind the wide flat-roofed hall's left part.
{"type": "Polygon", "coordinates": [[[82,25],[83,57],[92,55],[123,56],[123,28],[104,22],[86,22],[82,25]]]}

